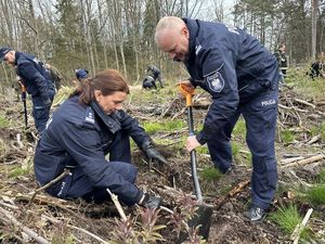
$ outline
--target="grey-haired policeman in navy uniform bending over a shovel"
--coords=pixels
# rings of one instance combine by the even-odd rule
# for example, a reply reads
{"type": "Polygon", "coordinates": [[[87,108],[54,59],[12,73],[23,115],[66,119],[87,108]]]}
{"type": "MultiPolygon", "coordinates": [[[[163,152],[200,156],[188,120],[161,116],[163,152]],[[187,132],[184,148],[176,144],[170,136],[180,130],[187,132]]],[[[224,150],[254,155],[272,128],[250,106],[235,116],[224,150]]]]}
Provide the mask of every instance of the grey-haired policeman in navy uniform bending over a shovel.
{"type": "Polygon", "coordinates": [[[277,181],[274,137],[280,75],[274,55],[239,28],[176,16],[158,22],[155,40],[173,61],[185,64],[191,75],[190,81],[183,81],[186,86],[199,86],[212,97],[203,130],[186,141],[187,152],[207,143],[214,166],[231,171],[231,133],[243,114],[253,166],[252,205],[245,216],[262,220],[277,181]]]}

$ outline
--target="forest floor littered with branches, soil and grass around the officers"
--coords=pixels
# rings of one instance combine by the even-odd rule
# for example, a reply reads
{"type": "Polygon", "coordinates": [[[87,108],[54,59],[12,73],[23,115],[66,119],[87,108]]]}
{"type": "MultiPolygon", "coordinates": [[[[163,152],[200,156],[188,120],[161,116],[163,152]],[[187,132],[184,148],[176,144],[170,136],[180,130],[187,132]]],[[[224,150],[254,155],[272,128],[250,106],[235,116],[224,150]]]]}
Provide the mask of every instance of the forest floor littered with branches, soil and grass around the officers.
{"type": "MultiPolygon", "coordinates": [[[[53,110],[68,91],[60,91],[53,110]]],[[[177,92],[168,87],[146,92],[134,89],[125,107],[144,125],[169,162],[168,166],[154,163],[150,167],[144,154],[133,147],[132,160],[139,168],[136,184],[164,201],[164,208],[156,210],[120,206],[114,195],[113,202],[101,205],[48,195],[34,177],[38,138],[32,118],[29,114],[29,128],[25,129],[22,104],[11,101],[9,98],[15,95],[8,95],[10,92],[0,95],[0,243],[325,243],[325,101],[301,98],[286,87],[281,91],[278,189],[260,223],[243,216],[249,206],[251,175],[243,120],[234,131],[235,168],[230,175],[212,167],[206,147],[197,150],[204,201],[212,208],[209,237],[205,240],[198,228],[188,226],[198,207],[190,155],[183,145],[186,110],[177,92]],[[153,129],[157,125],[164,128],[153,129]],[[166,129],[168,125],[173,126],[166,129]]],[[[196,128],[209,104],[205,92],[194,97],[196,128]]]]}

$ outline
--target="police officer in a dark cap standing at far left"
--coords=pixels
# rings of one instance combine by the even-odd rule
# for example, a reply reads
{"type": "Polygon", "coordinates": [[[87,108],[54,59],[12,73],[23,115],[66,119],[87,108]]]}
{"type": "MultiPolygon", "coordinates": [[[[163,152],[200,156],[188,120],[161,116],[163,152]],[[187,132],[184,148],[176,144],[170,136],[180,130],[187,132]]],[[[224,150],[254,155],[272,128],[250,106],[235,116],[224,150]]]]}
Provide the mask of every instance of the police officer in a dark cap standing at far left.
{"type": "Polygon", "coordinates": [[[55,94],[54,86],[43,67],[34,55],[16,52],[10,48],[0,49],[0,61],[15,66],[27,93],[31,95],[32,117],[41,134],[50,116],[50,108],[55,94]]]}

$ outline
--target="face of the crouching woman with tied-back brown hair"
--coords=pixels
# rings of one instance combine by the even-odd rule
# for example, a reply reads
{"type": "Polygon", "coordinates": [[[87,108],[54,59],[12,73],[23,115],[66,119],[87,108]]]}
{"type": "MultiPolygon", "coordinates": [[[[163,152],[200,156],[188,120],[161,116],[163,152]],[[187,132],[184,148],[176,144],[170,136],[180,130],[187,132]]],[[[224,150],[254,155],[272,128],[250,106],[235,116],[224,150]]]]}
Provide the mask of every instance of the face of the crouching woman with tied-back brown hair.
{"type": "Polygon", "coordinates": [[[106,114],[112,114],[122,108],[122,103],[127,98],[127,93],[122,91],[116,91],[109,95],[103,95],[100,90],[94,91],[95,99],[102,110],[106,114]]]}

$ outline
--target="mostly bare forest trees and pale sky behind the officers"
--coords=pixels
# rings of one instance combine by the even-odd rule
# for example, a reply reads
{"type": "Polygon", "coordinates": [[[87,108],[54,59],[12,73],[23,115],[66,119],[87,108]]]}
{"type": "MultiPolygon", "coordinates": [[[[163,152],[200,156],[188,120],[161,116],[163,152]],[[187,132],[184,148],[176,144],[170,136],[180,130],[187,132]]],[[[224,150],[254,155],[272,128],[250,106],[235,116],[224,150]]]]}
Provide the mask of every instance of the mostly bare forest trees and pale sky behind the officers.
{"type": "MultiPolygon", "coordinates": [[[[167,79],[187,78],[154,41],[165,15],[224,22],[245,28],[271,52],[286,43],[290,67],[325,50],[325,0],[0,0],[0,46],[32,53],[70,85],[74,69],[119,69],[134,85],[148,64],[167,79]]],[[[0,88],[14,70],[2,64],[0,88]]]]}

